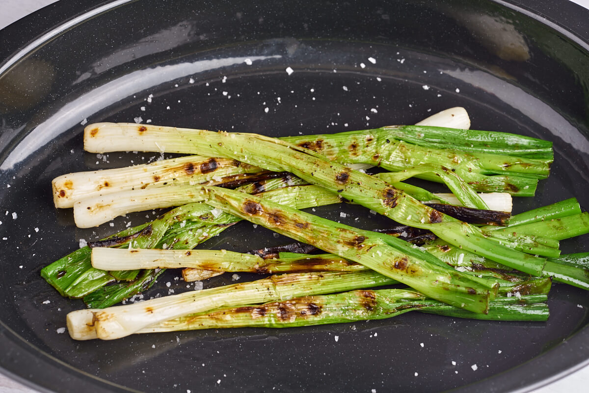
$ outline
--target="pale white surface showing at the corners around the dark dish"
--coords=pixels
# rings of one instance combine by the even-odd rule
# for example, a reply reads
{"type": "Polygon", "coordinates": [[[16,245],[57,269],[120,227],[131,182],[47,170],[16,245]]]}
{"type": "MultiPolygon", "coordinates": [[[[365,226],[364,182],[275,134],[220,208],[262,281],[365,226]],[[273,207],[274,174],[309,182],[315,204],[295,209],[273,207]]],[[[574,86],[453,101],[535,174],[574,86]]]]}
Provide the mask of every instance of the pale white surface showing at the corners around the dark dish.
{"type": "MultiPolygon", "coordinates": [[[[0,12],[0,29],[22,18],[22,16],[31,14],[46,5],[58,0],[0,0],[2,2],[2,12],[0,12]]],[[[589,9],[589,0],[571,0],[579,5],[589,9]]],[[[582,368],[568,377],[562,378],[552,384],[531,393],[570,393],[585,391],[587,381],[589,381],[589,366],[582,368]]],[[[1,393],[37,393],[36,390],[26,387],[0,374],[0,392],[1,393]]]]}

